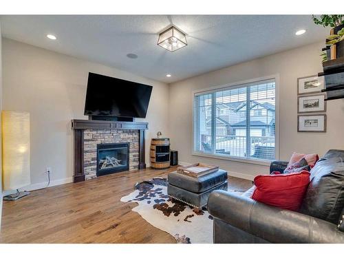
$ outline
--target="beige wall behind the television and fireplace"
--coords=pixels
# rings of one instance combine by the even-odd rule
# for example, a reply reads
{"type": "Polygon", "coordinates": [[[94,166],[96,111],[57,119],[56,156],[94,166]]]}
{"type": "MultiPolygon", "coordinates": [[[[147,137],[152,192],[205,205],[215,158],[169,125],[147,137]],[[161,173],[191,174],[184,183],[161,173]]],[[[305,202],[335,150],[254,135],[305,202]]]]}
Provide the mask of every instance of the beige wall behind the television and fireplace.
{"type": "MultiPolygon", "coordinates": [[[[72,180],[73,141],[70,120],[83,116],[88,72],[153,85],[147,118],[146,150],[157,131],[168,133],[169,86],[134,74],[3,39],[3,109],[29,111],[31,119],[30,189],[72,180]]],[[[138,119],[142,120],[142,119],[138,119]]],[[[149,151],[146,151],[149,162],[149,151]]]]}

